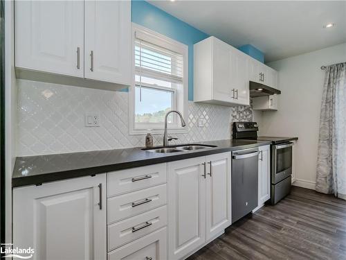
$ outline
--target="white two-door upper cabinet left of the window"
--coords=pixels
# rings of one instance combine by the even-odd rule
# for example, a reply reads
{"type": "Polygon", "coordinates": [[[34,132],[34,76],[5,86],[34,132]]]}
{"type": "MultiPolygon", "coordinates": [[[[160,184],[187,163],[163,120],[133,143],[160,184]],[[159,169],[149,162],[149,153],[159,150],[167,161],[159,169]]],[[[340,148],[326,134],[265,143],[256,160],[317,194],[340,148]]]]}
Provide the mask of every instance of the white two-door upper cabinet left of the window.
{"type": "Polygon", "coordinates": [[[131,1],[15,1],[19,78],[130,85],[131,57],[131,1]]]}

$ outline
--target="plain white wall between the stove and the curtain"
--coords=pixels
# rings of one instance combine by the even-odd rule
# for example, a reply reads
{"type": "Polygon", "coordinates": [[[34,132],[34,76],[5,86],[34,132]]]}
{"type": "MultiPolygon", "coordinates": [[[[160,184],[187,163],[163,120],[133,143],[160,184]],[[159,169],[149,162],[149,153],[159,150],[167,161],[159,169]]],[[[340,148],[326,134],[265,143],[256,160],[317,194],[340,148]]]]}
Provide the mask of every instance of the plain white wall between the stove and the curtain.
{"type": "Polygon", "coordinates": [[[320,104],[325,71],[322,65],[346,62],[346,43],[268,65],[279,71],[277,112],[263,112],[260,135],[298,137],[295,185],[315,189],[320,104]]]}

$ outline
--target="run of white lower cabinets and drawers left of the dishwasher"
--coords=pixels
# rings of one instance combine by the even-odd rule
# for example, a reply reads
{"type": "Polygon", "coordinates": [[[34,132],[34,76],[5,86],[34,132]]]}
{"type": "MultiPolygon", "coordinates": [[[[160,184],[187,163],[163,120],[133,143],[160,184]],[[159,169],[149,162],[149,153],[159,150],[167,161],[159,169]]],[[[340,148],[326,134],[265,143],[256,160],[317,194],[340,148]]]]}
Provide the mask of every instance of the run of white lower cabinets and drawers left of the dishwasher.
{"type": "Polygon", "coordinates": [[[231,223],[230,164],[219,153],[15,188],[14,246],[37,260],[183,259],[231,223]]]}

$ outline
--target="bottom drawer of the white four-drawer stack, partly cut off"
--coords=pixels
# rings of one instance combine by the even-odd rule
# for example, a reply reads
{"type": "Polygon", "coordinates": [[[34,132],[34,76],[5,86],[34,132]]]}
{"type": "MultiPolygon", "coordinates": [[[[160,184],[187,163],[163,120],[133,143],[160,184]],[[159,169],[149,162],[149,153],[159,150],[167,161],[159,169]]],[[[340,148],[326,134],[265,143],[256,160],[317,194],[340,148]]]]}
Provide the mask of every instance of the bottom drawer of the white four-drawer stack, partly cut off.
{"type": "Polygon", "coordinates": [[[163,227],[108,254],[108,260],[134,259],[167,259],[167,229],[163,227]]]}

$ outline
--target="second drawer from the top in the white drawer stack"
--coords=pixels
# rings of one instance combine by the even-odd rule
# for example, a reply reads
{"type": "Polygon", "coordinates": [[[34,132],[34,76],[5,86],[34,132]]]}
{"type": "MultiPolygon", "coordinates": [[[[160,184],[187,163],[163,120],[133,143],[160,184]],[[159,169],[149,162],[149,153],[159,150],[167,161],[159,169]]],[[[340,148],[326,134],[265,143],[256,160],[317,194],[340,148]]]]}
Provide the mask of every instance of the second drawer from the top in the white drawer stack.
{"type": "Polygon", "coordinates": [[[166,184],[126,193],[107,200],[108,223],[140,214],[167,203],[166,184]]]}

